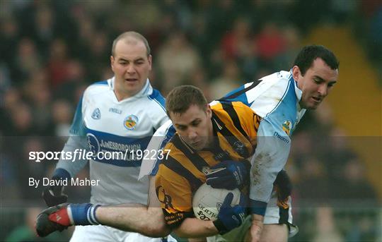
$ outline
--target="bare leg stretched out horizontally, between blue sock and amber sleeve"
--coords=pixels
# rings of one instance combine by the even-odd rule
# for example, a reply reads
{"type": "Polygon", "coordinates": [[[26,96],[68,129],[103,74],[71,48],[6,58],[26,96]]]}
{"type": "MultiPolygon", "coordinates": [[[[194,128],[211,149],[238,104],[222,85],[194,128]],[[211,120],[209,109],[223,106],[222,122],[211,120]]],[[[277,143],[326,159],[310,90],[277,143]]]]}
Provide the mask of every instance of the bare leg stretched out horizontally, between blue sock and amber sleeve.
{"type": "Polygon", "coordinates": [[[170,234],[160,207],[148,208],[140,204],[98,207],[96,217],[100,224],[149,237],[170,234]]]}

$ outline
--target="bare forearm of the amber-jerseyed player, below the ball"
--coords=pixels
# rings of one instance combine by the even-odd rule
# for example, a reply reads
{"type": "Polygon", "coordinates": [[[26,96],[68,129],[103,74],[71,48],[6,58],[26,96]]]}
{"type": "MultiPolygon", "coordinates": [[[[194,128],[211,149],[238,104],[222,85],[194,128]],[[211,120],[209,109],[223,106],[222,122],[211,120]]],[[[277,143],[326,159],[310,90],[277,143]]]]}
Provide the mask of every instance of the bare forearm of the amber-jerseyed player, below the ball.
{"type": "Polygon", "coordinates": [[[195,218],[185,219],[174,232],[180,238],[203,238],[219,234],[212,221],[195,218]]]}

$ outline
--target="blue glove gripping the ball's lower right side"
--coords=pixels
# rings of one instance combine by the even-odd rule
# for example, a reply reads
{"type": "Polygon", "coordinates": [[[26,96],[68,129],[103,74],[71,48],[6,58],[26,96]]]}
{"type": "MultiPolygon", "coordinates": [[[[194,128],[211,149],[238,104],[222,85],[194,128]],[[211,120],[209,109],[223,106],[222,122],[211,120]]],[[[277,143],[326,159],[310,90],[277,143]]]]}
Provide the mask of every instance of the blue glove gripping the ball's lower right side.
{"type": "Polygon", "coordinates": [[[231,207],[233,194],[228,193],[220,207],[218,219],[214,221],[216,229],[219,234],[226,234],[226,232],[241,226],[245,219],[245,198],[241,195],[239,205],[231,207]]]}

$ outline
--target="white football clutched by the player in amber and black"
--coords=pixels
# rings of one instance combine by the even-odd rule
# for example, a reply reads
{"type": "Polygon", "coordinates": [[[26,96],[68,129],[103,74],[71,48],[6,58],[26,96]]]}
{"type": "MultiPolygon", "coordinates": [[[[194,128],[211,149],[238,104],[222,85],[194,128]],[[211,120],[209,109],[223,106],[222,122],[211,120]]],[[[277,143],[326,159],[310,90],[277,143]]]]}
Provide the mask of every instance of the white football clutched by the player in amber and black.
{"type": "Polygon", "coordinates": [[[197,189],[194,198],[192,198],[195,217],[202,220],[216,220],[228,193],[233,193],[231,206],[238,205],[240,202],[240,190],[238,188],[235,190],[212,188],[212,186],[204,183],[197,189]]]}

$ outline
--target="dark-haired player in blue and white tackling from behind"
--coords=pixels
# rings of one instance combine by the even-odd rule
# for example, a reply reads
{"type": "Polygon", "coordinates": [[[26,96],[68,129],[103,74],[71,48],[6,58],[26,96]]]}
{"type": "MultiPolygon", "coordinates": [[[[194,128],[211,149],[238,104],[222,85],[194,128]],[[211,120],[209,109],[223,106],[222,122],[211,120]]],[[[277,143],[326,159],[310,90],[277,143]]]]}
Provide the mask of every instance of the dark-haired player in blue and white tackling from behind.
{"type": "MultiPolygon", "coordinates": [[[[250,229],[248,236],[251,241],[260,241],[260,236],[264,241],[287,241],[288,227],[289,232],[294,233],[289,210],[290,198],[287,195],[288,200],[281,200],[280,204],[277,204],[274,193],[272,196],[273,184],[277,179],[277,174],[282,171],[287,162],[291,133],[306,109],[316,109],[328,95],[332,86],[337,82],[337,76],[338,61],[334,54],[322,46],[307,46],[297,56],[291,71],[280,71],[268,75],[258,82],[245,84],[226,97],[215,101],[243,102],[261,117],[257,131],[257,147],[251,160],[250,209],[252,216],[242,225],[243,228],[238,231],[241,238],[236,237],[236,240],[243,239],[247,234],[245,231],[248,229],[250,229]]],[[[160,150],[173,132],[174,128],[168,121],[154,134],[156,138],[151,140],[148,149],[160,150]],[[158,138],[158,136],[162,136],[162,138],[158,138]]],[[[157,166],[158,162],[153,162],[152,159],[144,160],[139,177],[144,178],[146,174],[156,174],[157,166]]],[[[214,187],[219,187],[219,184],[224,185],[220,179],[219,172],[207,175],[207,183],[209,182],[214,187]]],[[[150,188],[152,190],[153,186],[151,185],[150,188]]],[[[117,209],[109,207],[62,205],[52,208],[52,210],[45,210],[40,214],[37,225],[41,224],[41,226],[40,229],[37,227],[37,232],[40,231],[40,234],[46,235],[72,224],[89,224],[91,222],[88,221],[89,219],[85,219],[86,215],[98,222],[102,221],[103,224],[123,226],[123,224],[129,223],[129,219],[124,221],[121,217],[129,217],[131,213],[128,210],[117,212],[117,209]],[[113,211],[115,211],[114,216],[110,215],[113,211]],[[54,214],[68,212],[74,215],[66,215],[70,219],[70,222],[67,223],[44,217],[47,214],[54,216],[54,214]],[[112,218],[120,220],[112,224],[110,222],[112,218]],[[52,228],[52,226],[54,227],[52,228]]]]}

